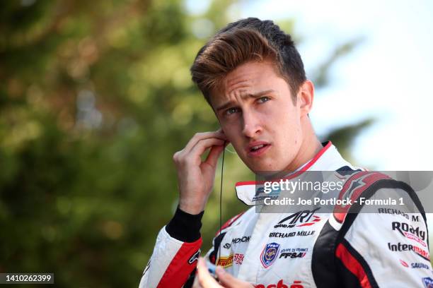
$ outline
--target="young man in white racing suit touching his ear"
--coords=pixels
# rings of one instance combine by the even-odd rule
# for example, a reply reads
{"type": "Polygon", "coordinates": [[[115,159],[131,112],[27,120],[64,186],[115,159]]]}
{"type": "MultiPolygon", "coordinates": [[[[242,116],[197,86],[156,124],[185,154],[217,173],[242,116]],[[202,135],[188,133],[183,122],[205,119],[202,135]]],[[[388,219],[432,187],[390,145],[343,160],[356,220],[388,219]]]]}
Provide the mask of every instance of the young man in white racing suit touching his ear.
{"type": "MultiPolygon", "coordinates": [[[[402,182],[352,167],[332,143],[319,142],[308,118],[313,83],[306,79],[289,35],[269,20],[239,20],[200,49],[191,71],[221,129],[197,133],[173,156],[178,210],[158,234],[140,287],[191,287],[193,282],[194,287],[268,288],[433,283],[427,225],[416,194],[402,182]],[[208,263],[222,267],[217,268],[217,282],[204,260],[198,260],[200,227],[226,143],[255,173],[331,171],[347,181],[343,190],[352,198],[386,192],[404,194],[408,203],[398,210],[352,214],[347,209],[318,214],[320,208],[294,213],[250,208],[221,227],[206,255],[208,263]]],[[[236,191],[241,200],[254,204],[255,184],[237,184],[236,191]]],[[[364,207],[350,209],[360,212],[364,207]]]]}

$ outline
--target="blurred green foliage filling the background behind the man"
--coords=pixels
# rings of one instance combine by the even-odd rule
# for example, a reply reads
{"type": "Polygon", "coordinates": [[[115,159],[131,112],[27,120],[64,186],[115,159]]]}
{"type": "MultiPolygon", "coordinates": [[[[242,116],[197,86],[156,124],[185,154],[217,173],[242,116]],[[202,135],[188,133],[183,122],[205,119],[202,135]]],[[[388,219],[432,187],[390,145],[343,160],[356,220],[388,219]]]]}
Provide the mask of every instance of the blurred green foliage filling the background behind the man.
{"type": "MultiPolygon", "coordinates": [[[[218,128],[188,69],[232,2],[200,16],[178,0],[2,2],[0,272],[54,272],[57,287],[138,286],[177,205],[173,153],[218,128]]],[[[294,23],[281,25],[292,32],[294,23]]],[[[319,65],[318,84],[352,46],[319,65]]],[[[368,124],[330,136],[348,152],[368,124]]],[[[253,175],[227,152],[224,169],[226,220],[246,209],[235,182],[253,175]]],[[[218,203],[214,193],[204,251],[218,203]]]]}

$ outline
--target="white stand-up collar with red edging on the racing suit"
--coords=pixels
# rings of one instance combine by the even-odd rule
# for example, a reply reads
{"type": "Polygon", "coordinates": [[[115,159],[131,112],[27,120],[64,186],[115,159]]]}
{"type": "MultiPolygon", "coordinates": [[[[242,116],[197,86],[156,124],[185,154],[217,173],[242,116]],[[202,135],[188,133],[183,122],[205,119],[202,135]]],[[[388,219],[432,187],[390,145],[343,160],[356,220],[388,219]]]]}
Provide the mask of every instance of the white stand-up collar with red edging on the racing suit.
{"type": "MultiPolygon", "coordinates": [[[[323,148],[310,161],[301,165],[295,172],[289,174],[289,177],[295,177],[297,174],[305,171],[335,171],[343,166],[352,166],[343,159],[337,148],[330,141],[322,143],[323,148]]],[[[247,205],[255,205],[256,181],[242,181],[236,183],[236,196],[239,200],[247,205]]]]}

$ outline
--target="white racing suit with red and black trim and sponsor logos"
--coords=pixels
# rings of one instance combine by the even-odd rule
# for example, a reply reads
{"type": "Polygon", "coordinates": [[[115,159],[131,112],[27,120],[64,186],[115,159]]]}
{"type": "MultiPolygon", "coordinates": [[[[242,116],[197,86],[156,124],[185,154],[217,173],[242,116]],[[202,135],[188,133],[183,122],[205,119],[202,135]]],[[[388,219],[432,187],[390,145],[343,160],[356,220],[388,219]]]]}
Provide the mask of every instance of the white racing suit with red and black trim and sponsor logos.
{"type": "MultiPolygon", "coordinates": [[[[389,196],[405,203],[374,212],[363,212],[359,201],[330,212],[253,206],[221,227],[207,260],[257,288],[433,287],[425,213],[410,186],[352,167],[330,142],[299,169],[306,171],[333,172],[345,180],[340,196],[352,200],[389,196]]],[[[254,204],[255,182],[236,184],[236,193],[254,204]]],[[[158,234],[140,288],[192,285],[202,215],[175,212],[158,234]]]]}

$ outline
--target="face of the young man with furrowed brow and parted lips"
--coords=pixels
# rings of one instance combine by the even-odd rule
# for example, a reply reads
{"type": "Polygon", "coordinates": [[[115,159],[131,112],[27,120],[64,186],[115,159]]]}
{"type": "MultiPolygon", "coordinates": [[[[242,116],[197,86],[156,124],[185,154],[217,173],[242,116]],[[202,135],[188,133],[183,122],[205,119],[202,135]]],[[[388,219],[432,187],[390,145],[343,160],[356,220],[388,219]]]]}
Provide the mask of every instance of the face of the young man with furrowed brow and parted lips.
{"type": "Polygon", "coordinates": [[[229,73],[211,97],[221,128],[253,172],[290,167],[303,141],[301,117],[287,82],[269,61],[250,61],[229,73]]]}

